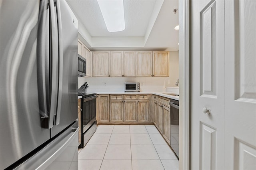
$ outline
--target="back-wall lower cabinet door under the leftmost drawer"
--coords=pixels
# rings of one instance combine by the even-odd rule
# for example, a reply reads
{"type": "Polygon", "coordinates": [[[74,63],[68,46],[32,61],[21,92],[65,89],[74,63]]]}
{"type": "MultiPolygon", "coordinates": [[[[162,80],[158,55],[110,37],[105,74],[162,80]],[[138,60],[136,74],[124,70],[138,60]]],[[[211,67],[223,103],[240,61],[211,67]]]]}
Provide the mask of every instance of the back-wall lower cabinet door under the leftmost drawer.
{"type": "Polygon", "coordinates": [[[110,122],[124,121],[123,100],[110,100],[110,122]]]}

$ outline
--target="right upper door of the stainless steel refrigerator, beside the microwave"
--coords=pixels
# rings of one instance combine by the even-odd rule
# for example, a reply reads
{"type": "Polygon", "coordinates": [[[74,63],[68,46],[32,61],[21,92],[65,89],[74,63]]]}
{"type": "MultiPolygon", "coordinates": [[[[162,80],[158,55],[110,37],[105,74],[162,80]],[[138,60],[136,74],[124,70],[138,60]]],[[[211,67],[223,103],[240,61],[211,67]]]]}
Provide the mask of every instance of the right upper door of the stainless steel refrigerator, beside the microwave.
{"type": "Polygon", "coordinates": [[[78,21],[64,0],[55,0],[59,30],[59,91],[57,115],[51,137],[78,118],[78,21]]]}

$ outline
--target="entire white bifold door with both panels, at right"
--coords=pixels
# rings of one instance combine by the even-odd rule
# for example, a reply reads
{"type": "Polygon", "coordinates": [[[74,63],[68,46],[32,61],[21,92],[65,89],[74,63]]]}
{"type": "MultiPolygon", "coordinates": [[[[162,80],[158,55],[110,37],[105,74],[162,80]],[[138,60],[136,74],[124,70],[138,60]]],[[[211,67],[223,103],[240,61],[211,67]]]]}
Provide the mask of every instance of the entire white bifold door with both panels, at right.
{"type": "Polygon", "coordinates": [[[255,170],[256,1],[191,10],[191,169],[255,170]]]}

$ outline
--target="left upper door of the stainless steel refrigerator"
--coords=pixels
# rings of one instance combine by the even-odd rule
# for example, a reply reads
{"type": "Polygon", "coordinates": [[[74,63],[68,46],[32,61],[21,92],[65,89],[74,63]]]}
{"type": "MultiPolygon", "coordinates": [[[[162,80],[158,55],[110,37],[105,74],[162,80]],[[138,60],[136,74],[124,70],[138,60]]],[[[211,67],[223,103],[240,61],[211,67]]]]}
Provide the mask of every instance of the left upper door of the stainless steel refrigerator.
{"type": "MultiPolygon", "coordinates": [[[[39,6],[40,1],[31,0],[0,2],[1,170],[50,139],[50,130],[40,125],[38,106],[36,49],[39,6]]],[[[47,17],[47,6],[42,10],[47,17]]],[[[49,21],[44,26],[47,39],[49,21]]]]}

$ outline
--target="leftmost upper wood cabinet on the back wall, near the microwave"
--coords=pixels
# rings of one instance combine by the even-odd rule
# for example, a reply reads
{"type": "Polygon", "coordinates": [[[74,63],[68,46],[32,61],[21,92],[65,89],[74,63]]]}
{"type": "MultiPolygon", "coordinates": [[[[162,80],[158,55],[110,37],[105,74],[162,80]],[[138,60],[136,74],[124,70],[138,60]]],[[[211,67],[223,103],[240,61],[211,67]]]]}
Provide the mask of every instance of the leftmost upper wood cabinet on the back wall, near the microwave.
{"type": "Polygon", "coordinates": [[[110,51],[94,51],[92,60],[93,77],[110,77],[110,51]]]}

